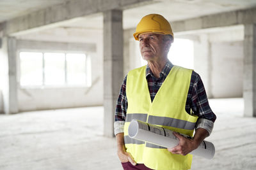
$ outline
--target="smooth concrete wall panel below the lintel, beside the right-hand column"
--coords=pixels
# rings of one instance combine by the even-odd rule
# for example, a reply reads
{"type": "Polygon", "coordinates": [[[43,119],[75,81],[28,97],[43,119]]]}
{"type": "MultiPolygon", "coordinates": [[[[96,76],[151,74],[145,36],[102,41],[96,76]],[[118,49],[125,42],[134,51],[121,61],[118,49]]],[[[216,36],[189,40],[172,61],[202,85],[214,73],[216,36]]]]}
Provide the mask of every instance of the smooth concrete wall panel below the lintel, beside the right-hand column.
{"type": "Polygon", "coordinates": [[[212,97],[243,97],[243,41],[211,43],[212,97]]]}

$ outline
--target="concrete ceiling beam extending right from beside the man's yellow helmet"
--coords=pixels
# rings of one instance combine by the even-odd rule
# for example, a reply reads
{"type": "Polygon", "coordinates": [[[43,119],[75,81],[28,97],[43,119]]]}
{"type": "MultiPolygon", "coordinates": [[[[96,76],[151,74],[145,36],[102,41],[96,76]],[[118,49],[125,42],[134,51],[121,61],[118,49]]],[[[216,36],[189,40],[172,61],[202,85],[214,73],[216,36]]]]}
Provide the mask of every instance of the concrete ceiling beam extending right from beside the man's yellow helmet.
{"type": "Polygon", "coordinates": [[[173,32],[195,31],[214,27],[228,27],[232,25],[256,23],[256,8],[228,11],[188,20],[171,22],[173,32]]]}

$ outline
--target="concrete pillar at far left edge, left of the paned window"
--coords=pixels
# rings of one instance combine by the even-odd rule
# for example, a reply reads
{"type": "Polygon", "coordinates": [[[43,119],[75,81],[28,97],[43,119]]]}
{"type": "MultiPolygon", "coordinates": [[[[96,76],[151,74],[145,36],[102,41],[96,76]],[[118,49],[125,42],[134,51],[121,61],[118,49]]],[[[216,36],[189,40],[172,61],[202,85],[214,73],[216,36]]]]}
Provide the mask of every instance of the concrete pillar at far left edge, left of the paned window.
{"type": "Polygon", "coordinates": [[[2,38],[0,48],[0,89],[3,95],[3,111],[6,114],[18,112],[16,39],[2,38]]]}

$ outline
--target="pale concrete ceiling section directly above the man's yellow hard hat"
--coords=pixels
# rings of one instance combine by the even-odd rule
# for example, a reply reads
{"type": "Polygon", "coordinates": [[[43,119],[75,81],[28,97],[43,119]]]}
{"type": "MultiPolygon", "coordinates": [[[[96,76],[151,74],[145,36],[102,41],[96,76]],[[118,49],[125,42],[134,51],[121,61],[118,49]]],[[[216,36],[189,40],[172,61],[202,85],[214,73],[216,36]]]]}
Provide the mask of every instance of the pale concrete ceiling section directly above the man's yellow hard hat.
{"type": "Polygon", "coordinates": [[[140,18],[148,13],[159,13],[173,22],[256,6],[255,0],[163,0],[157,2],[125,10],[124,28],[135,27],[140,18]]]}

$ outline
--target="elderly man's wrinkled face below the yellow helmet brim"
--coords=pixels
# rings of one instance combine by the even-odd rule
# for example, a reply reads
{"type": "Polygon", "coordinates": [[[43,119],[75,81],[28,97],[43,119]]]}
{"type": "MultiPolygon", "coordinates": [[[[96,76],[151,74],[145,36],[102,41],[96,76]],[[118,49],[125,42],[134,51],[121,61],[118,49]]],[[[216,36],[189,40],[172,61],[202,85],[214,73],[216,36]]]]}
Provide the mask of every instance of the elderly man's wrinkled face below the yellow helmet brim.
{"type": "Polygon", "coordinates": [[[166,41],[163,41],[163,35],[145,33],[140,34],[140,52],[144,60],[157,61],[166,57],[166,41]]]}

